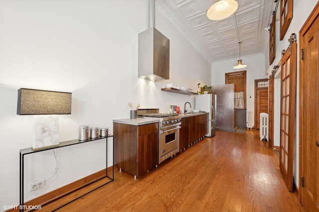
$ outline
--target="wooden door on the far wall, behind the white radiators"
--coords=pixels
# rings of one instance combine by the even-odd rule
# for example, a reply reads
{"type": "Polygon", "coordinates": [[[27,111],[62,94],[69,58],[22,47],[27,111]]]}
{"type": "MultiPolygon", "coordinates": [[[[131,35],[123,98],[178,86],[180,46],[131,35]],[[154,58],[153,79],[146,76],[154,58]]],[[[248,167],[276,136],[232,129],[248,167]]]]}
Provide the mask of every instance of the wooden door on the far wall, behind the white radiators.
{"type": "Polygon", "coordinates": [[[259,129],[260,113],[268,113],[268,79],[255,80],[255,94],[255,128],[259,129]]]}

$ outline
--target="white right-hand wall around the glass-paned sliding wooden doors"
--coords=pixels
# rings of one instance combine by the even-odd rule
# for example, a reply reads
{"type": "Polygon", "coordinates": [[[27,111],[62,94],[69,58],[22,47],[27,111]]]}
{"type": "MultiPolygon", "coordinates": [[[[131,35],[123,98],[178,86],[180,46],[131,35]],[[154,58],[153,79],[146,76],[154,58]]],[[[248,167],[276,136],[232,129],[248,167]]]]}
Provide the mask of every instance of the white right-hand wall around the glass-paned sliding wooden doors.
{"type": "MultiPolygon", "coordinates": [[[[273,66],[277,65],[281,59],[281,51],[286,50],[289,46],[288,39],[292,33],[297,35],[297,98],[296,98],[296,134],[295,134],[295,163],[294,163],[294,181],[297,187],[299,187],[299,30],[305,23],[309,14],[315,7],[318,0],[303,0],[303,1],[294,1],[293,5],[293,19],[289,25],[289,28],[285,34],[285,37],[282,41],[279,41],[279,27],[278,21],[276,22],[276,58],[269,70],[271,71],[273,66]]],[[[279,9],[278,11],[279,12],[279,9]]],[[[268,54],[268,53],[267,53],[268,54]]],[[[266,53],[265,53],[266,55],[266,53]]],[[[266,60],[268,62],[268,59],[266,60]]],[[[269,75],[271,72],[268,73],[269,75]]],[[[276,73],[276,76],[279,73],[276,73]]],[[[278,84],[278,80],[275,80],[278,84]]],[[[280,87],[280,85],[279,85],[280,87]]],[[[276,89],[276,88],[275,88],[276,89]]],[[[276,94],[276,91],[275,91],[276,94]]],[[[275,103],[277,106],[274,108],[274,123],[280,123],[280,93],[277,92],[275,96],[275,103]],[[279,95],[278,95],[279,94],[279,95]],[[275,116],[275,114],[278,114],[275,116]]],[[[280,125],[278,125],[280,127],[280,125]]],[[[276,127],[274,126],[276,129],[276,127]]],[[[277,133],[274,132],[274,141],[277,141],[276,144],[280,145],[280,132],[277,130],[277,133]]],[[[274,145],[276,145],[274,142],[274,145]]]]}

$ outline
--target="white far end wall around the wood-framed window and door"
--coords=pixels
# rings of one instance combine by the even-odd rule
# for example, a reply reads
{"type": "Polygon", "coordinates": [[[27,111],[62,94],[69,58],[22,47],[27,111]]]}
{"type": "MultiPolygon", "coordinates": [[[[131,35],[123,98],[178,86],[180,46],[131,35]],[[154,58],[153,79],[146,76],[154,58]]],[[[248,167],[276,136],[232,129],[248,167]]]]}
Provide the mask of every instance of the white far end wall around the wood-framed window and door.
{"type": "Polygon", "coordinates": [[[212,85],[225,84],[225,73],[246,70],[246,101],[247,110],[254,111],[255,104],[255,80],[265,79],[265,56],[263,54],[241,57],[243,63],[247,65],[244,69],[233,69],[236,65],[233,59],[212,63],[212,85]]]}

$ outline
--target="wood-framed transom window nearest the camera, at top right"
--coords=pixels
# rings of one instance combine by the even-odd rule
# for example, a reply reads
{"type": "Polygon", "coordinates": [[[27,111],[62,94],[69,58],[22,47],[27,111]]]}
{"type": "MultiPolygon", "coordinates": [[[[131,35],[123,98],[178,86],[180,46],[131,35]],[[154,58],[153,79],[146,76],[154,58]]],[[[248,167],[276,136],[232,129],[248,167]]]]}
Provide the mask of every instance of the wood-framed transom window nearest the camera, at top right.
{"type": "Polygon", "coordinates": [[[293,0],[280,0],[280,40],[284,39],[293,18],[293,0]]]}

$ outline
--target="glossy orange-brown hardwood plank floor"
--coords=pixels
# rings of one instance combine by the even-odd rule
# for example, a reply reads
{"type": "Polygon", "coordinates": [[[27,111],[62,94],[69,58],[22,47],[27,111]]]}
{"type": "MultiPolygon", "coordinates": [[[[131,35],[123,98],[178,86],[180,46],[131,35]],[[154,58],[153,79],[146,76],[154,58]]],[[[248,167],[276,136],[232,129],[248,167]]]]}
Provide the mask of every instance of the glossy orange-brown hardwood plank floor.
{"type": "MultiPolygon", "coordinates": [[[[114,182],[58,211],[304,211],[281,177],[277,156],[258,132],[217,131],[136,180],[116,172],[114,182]]],[[[54,203],[41,212],[52,207],[54,203]]]]}

